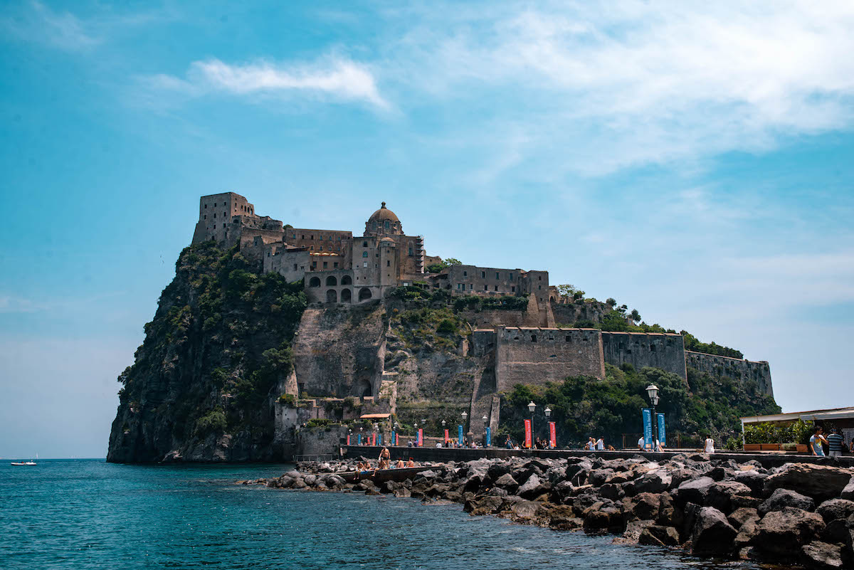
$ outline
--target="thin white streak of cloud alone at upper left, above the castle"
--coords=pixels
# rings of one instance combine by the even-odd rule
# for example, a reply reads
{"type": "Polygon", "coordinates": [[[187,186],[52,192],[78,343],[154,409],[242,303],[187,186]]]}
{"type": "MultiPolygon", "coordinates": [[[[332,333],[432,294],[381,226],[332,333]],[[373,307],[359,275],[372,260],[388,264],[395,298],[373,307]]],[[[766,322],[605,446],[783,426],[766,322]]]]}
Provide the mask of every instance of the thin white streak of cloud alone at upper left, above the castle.
{"type": "Polygon", "coordinates": [[[213,93],[265,100],[303,96],[365,102],[383,111],[390,109],[370,69],[342,57],[293,64],[257,61],[232,65],[218,59],[194,61],[184,78],[159,74],[145,81],[155,90],[189,97],[213,93]]]}

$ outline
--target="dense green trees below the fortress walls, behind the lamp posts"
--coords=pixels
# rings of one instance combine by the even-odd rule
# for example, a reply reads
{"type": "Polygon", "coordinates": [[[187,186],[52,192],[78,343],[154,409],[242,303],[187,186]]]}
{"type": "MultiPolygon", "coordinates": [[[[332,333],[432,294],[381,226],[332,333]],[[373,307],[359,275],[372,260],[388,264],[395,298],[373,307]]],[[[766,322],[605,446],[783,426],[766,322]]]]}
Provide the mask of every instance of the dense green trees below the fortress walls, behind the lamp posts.
{"type": "Polygon", "coordinates": [[[619,449],[623,433],[636,439],[641,431],[640,409],[649,406],[646,387],[650,384],[660,390],[657,411],[666,415],[670,445],[677,435],[691,445],[699,445],[699,438],[705,433],[711,433],[722,445],[740,433],[740,416],[780,411],[774,399],[760,392],[752,380],[716,377],[689,368],[686,385],[679,376],[661,369],[639,371],[630,364],[622,368],[605,364],[604,381],[572,376],[563,384],[513,387],[504,395],[501,431],[514,439],[521,438],[522,420],[529,417],[527,405],[533,400],[537,404],[535,431],[539,437],[546,437],[542,410],[548,406],[553,411],[551,420],[556,422],[561,446],[581,445],[590,436],[602,436],[607,444],[619,449]]]}

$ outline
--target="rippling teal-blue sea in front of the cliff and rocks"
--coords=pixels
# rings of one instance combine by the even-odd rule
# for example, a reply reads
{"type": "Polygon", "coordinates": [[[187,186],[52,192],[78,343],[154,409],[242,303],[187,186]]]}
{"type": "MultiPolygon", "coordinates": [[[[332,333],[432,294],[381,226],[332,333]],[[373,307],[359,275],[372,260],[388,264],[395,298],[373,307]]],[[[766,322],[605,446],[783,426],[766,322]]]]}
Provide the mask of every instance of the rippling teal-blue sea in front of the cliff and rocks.
{"type": "Polygon", "coordinates": [[[758,568],[469,516],[459,504],[238,486],[292,465],[0,463],[0,568],[758,568]]]}

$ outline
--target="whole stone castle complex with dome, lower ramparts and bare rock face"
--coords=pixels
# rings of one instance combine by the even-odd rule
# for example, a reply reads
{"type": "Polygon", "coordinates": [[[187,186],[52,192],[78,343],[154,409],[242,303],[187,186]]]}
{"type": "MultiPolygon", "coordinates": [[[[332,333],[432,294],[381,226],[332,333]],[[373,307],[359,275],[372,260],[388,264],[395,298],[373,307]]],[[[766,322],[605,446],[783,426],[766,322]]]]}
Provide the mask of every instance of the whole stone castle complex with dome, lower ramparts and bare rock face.
{"type": "MultiPolygon", "coordinates": [[[[427,272],[428,265],[442,259],[426,254],[423,236],[407,236],[385,202],[367,219],[362,236],[354,236],[345,230],[294,228],[259,216],[246,198],[233,192],[202,196],[193,243],[212,239],[226,247],[237,245],[244,256],[262,263],[264,272],[304,282],[311,305],[295,339],[295,369],[284,382],[285,393],[357,397],[369,400],[375,411],[395,413],[397,399],[405,394],[410,400],[433,398],[430,394],[442,381],[453,375],[471,377],[465,409],[475,433],[483,428],[483,417],[498,427],[499,393],[514,384],[563,381],[569,375],[604,378],[605,364],[652,366],[682,379],[690,366],[755,381],[761,392],[773,396],[767,362],[686,351],[681,334],[603,332],[559,324],[576,319],[563,318],[571,300],[549,285],[548,271],[451,265],[427,272]],[[429,369],[423,363],[407,367],[412,355],[395,348],[384,312],[383,317],[369,315],[354,329],[347,329],[340,315],[348,307],[370,311],[389,291],[415,282],[453,296],[526,297],[527,305],[519,311],[463,311],[460,316],[471,335],[457,359],[429,369]],[[425,378],[440,381],[426,388],[425,378]]],[[[297,419],[282,421],[292,425],[297,419]]]]}

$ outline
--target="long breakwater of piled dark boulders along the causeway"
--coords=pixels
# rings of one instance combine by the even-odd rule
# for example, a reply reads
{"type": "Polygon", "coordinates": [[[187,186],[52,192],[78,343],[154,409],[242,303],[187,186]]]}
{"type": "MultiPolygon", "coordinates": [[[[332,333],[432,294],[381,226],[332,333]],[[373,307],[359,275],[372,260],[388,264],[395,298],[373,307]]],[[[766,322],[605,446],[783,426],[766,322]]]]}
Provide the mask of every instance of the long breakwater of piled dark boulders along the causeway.
{"type": "Polygon", "coordinates": [[[301,463],[278,478],[238,483],[461,503],[471,515],[612,533],[625,544],[854,567],[854,470],[848,468],[787,463],[767,469],[703,454],[662,462],[640,456],[478,459],[358,477],[354,467],[355,460],[301,463]]]}

